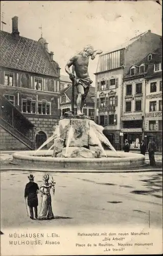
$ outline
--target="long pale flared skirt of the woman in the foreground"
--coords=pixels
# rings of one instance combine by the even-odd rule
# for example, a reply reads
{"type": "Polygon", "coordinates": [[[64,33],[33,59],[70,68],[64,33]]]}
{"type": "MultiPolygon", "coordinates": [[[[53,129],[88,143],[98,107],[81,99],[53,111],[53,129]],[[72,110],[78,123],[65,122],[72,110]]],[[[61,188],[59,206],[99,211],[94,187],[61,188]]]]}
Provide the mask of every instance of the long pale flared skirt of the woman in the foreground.
{"type": "Polygon", "coordinates": [[[52,211],[51,195],[43,194],[41,200],[42,200],[42,203],[41,203],[41,209],[38,215],[38,219],[40,220],[54,219],[54,215],[52,211]]]}

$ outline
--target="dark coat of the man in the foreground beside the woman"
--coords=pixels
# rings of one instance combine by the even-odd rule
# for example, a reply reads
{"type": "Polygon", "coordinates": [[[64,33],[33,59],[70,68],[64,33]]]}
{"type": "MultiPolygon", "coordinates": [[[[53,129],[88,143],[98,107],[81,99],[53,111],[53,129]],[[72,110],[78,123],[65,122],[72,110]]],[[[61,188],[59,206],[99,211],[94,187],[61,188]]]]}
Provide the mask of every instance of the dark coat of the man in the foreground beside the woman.
{"type": "Polygon", "coordinates": [[[25,188],[25,198],[27,197],[28,206],[38,206],[37,190],[39,189],[37,183],[30,181],[25,188]]]}

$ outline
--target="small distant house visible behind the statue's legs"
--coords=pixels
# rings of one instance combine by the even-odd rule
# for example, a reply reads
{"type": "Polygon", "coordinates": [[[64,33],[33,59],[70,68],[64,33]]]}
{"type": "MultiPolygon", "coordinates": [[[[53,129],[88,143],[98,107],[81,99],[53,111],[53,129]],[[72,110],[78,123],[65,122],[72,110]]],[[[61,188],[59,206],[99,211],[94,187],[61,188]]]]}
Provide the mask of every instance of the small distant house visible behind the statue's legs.
{"type": "MultiPolygon", "coordinates": [[[[62,81],[61,81],[62,83],[62,81]]],[[[64,90],[60,91],[60,110],[61,115],[63,115],[67,111],[72,111],[72,83],[68,87],[66,87],[64,90]]],[[[77,98],[77,91],[75,89],[75,102],[77,98]]],[[[74,103],[74,111],[75,114],[77,112],[77,106],[76,103],[74,103]]],[[[85,99],[85,104],[82,109],[82,113],[85,116],[89,116],[92,120],[94,120],[95,116],[95,87],[90,86],[89,92],[87,94],[87,97],[85,99]]]]}

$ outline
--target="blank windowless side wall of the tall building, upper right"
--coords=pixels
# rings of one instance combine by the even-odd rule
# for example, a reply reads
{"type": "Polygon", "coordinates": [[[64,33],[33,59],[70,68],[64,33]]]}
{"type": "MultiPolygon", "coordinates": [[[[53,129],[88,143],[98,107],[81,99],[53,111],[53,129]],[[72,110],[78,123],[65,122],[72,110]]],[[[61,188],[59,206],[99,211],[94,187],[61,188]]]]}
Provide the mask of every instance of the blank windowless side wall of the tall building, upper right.
{"type": "Polygon", "coordinates": [[[140,61],[160,47],[160,38],[161,36],[148,32],[126,48],[124,76],[133,63],[140,61]]]}

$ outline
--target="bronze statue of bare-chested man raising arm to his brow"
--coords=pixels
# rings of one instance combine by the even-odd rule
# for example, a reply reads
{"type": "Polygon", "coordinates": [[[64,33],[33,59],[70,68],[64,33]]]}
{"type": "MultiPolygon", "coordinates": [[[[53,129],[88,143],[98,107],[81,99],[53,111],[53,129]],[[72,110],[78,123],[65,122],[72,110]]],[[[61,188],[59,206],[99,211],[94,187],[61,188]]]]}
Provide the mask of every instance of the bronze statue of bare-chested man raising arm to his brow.
{"type": "Polygon", "coordinates": [[[82,115],[84,100],[92,83],[88,75],[89,56],[91,56],[91,59],[95,59],[96,55],[101,53],[101,50],[94,50],[92,46],[88,45],[83,51],[69,59],[65,66],[65,71],[68,73],[69,78],[74,81],[74,86],[77,87],[77,115],[82,115]],[[76,76],[69,70],[72,65],[75,67],[76,76]]]}

